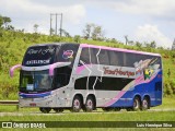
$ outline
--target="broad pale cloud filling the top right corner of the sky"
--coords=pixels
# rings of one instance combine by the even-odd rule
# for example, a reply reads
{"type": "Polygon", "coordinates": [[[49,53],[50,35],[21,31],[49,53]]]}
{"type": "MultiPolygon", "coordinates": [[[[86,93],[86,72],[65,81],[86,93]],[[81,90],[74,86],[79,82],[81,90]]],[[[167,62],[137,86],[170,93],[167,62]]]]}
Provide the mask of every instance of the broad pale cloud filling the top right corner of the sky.
{"type": "Polygon", "coordinates": [[[96,5],[121,13],[175,19],[175,0],[96,0],[96,5]]]}

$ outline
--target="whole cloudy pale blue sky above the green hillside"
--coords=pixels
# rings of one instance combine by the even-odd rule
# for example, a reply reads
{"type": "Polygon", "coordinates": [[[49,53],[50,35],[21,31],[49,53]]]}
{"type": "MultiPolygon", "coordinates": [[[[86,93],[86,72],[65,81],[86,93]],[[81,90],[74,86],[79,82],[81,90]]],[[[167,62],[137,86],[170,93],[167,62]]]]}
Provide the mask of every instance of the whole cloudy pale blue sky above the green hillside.
{"type": "MultiPolygon", "coordinates": [[[[86,23],[104,29],[107,38],[125,43],[155,41],[171,48],[175,36],[175,0],[0,0],[0,15],[9,16],[12,25],[49,34],[50,13],[62,13],[62,28],[71,36],[83,35],[86,23]]],[[[58,26],[60,15],[58,15],[58,26]]],[[[55,26],[55,17],[52,17],[55,26]]]]}

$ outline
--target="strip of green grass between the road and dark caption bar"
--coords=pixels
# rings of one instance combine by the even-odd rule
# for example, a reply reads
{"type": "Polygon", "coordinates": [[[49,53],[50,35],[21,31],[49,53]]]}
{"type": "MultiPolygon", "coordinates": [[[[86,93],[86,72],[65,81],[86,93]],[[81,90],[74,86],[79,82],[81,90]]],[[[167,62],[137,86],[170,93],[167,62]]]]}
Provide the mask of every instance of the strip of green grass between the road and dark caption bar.
{"type": "Polygon", "coordinates": [[[175,121],[175,111],[110,111],[110,112],[65,112],[42,115],[38,112],[1,116],[1,121],[175,121]],[[22,116],[24,115],[24,116],[22,116]]]}

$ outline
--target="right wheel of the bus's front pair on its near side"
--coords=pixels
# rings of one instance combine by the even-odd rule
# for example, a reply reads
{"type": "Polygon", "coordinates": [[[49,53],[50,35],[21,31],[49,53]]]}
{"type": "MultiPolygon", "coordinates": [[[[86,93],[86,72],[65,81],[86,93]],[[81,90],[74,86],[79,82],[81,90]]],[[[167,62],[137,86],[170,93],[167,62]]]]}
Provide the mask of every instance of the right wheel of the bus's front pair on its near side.
{"type": "Polygon", "coordinates": [[[85,102],[85,111],[92,111],[95,108],[95,102],[92,96],[89,96],[85,102]]]}

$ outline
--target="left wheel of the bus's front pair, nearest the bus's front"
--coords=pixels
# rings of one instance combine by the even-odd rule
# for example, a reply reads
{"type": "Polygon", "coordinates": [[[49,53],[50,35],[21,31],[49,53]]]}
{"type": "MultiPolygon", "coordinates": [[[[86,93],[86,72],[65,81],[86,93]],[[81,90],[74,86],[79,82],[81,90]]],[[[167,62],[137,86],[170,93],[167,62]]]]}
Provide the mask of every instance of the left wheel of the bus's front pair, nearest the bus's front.
{"type": "Polygon", "coordinates": [[[72,102],[72,111],[79,112],[82,108],[82,100],[79,96],[75,96],[72,102]]]}

